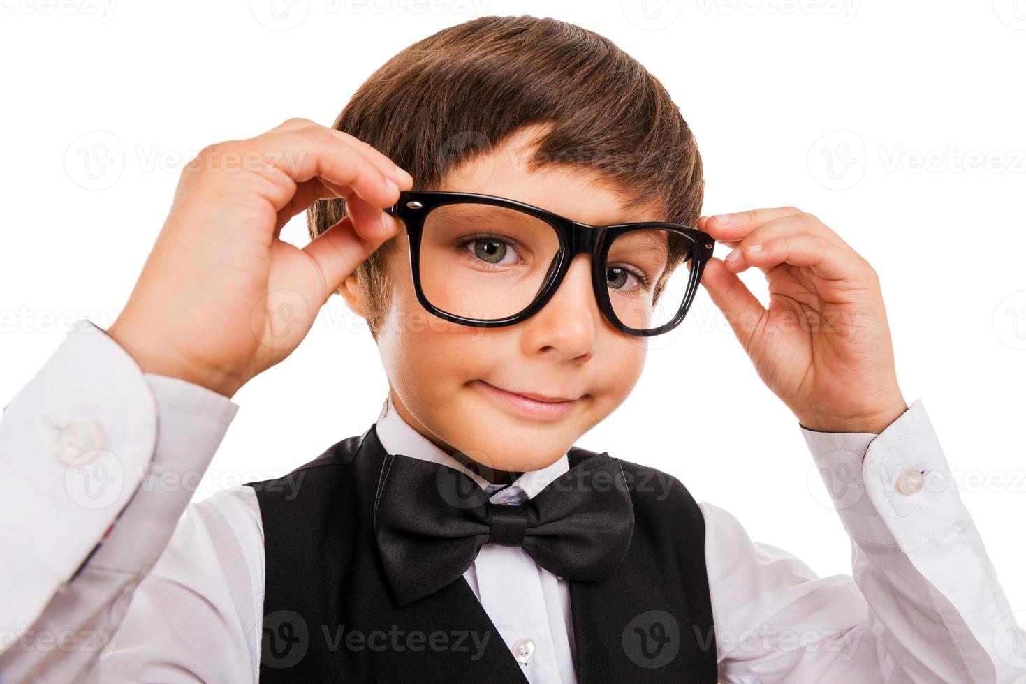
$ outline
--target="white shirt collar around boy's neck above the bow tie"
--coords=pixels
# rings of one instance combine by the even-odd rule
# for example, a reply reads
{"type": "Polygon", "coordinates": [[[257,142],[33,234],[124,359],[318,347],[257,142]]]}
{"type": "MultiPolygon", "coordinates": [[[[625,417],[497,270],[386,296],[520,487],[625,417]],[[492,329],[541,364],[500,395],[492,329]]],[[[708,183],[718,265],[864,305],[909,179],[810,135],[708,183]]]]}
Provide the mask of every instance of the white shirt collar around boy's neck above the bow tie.
{"type": "MultiPolygon", "coordinates": [[[[378,416],[376,426],[378,440],[385,447],[386,452],[392,454],[398,453],[410,456],[411,458],[420,458],[448,466],[469,475],[482,489],[490,484],[480,475],[472,472],[459,460],[438,448],[434,442],[417,432],[412,426],[406,423],[399,415],[399,412],[395,410],[395,406],[392,404],[391,393],[385,397],[385,403],[382,406],[382,412],[378,416]]],[[[550,482],[569,470],[568,464],[569,461],[564,453],[554,462],[541,470],[522,473],[520,477],[513,481],[511,486],[519,487],[527,495],[527,498],[530,498],[542,491],[550,482]]],[[[496,494],[496,496],[500,494],[496,494]]]]}

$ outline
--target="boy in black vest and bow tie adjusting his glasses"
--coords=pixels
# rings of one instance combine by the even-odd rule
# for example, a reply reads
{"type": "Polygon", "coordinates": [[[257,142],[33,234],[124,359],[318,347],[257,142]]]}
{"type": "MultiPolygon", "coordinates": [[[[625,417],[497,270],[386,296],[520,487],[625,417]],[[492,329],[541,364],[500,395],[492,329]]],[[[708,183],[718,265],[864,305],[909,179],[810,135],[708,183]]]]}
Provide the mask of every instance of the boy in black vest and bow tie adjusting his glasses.
{"type": "Polygon", "coordinates": [[[6,407],[2,493],[38,522],[4,525],[4,681],[1021,677],[982,541],[898,389],[874,272],[814,216],[699,217],[702,192],[658,81],[600,36],[529,16],[403,50],[333,129],[290,120],[205,149],[115,324],[80,323],[6,407]],[[229,158],[249,162],[218,172],[229,158]],[[315,239],[281,242],[308,207],[315,239]],[[589,251],[595,227],[641,222],[660,226],[608,229],[589,251]],[[561,260],[567,244],[582,253],[561,260]],[[737,277],[749,267],[768,312],[737,277]],[[574,446],[698,281],[825,476],[858,474],[864,493],[835,499],[854,578],[752,544],[631,462],[643,454],[574,446]],[[141,489],[139,473],[205,469],[230,398],[334,291],[378,344],[379,420],[175,526],[190,492],[141,489]],[[66,473],[97,464],[124,481],[85,506],[66,473]],[[33,647],[55,631],[110,649],[33,647]]]}

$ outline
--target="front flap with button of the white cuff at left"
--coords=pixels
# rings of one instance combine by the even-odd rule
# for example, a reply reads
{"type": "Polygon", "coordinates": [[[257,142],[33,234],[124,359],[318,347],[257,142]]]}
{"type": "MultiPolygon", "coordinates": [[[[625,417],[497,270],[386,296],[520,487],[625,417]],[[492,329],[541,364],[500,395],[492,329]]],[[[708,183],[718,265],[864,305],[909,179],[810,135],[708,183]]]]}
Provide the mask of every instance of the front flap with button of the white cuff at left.
{"type": "Polygon", "coordinates": [[[156,438],[135,361],[76,323],[0,420],[3,628],[26,629],[74,576],[139,488],[156,438]]]}

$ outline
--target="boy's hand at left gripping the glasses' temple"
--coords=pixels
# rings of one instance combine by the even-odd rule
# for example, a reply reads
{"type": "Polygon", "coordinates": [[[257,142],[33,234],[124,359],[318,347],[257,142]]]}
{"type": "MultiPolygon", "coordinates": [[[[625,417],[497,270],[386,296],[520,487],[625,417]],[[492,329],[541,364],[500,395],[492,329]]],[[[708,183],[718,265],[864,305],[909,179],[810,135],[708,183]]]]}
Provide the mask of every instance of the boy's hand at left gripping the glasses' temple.
{"type": "Polygon", "coordinates": [[[108,333],[144,372],[231,397],[287,357],[321,306],[396,234],[382,211],[412,178],[369,145],[305,119],[204,148],[108,333]],[[279,239],[315,200],[347,216],[306,247],[279,239]]]}

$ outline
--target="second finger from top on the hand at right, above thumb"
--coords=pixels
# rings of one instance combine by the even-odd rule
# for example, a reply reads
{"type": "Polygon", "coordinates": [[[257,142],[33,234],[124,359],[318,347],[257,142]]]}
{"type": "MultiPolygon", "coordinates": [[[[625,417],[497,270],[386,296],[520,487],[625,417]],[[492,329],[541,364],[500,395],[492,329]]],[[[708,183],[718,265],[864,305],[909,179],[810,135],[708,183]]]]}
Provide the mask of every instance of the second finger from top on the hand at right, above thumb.
{"type": "MultiPolygon", "coordinates": [[[[741,251],[738,263],[759,268],[773,268],[790,264],[812,269],[825,280],[854,281],[864,279],[864,260],[854,251],[840,246],[822,235],[789,235],[757,245],[748,245],[741,251]]],[[[739,267],[732,265],[732,271],[739,267]]],[[[744,268],[741,269],[742,271],[744,268]]]]}

